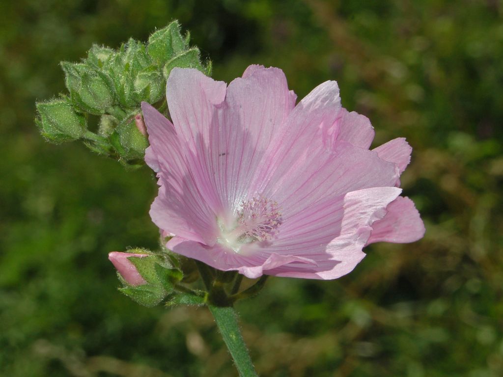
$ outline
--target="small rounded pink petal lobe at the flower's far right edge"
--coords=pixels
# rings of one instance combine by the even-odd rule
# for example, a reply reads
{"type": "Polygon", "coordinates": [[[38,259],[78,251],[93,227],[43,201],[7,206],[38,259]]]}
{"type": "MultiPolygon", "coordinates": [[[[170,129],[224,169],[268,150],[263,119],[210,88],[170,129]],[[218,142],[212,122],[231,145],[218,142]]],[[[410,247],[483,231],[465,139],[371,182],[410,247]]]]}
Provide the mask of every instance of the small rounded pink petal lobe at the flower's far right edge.
{"type": "Polygon", "coordinates": [[[409,243],[423,238],[425,225],[414,203],[407,197],[398,197],[386,208],[388,213],[372,224],[372,235],[367,244],[374,242],[409,243]]]}

